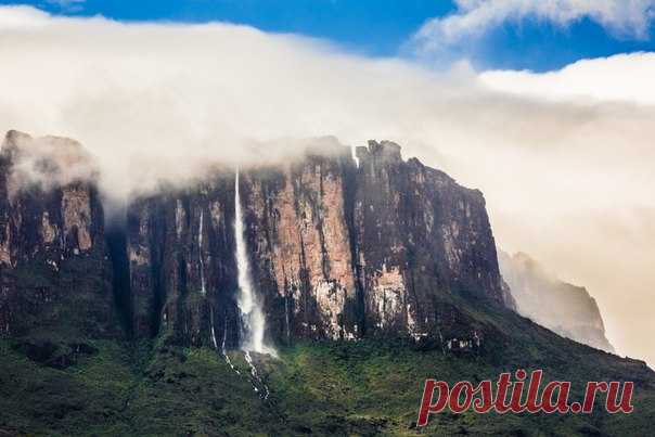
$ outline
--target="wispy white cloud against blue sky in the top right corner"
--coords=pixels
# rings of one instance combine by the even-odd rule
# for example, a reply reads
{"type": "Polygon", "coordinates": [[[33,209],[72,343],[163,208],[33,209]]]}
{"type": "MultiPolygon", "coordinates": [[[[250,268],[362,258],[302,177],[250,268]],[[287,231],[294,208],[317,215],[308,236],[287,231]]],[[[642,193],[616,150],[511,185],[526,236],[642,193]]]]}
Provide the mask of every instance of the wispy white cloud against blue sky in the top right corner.
{"type": "Polygon", "coordinates": [[[505,22],[526,18],[568,26],[589,18],[618,37],[646,38],[655,0],[455,0],[457,11],[428,21],[414,36],[422,53],[476,38],[505,22]]]}

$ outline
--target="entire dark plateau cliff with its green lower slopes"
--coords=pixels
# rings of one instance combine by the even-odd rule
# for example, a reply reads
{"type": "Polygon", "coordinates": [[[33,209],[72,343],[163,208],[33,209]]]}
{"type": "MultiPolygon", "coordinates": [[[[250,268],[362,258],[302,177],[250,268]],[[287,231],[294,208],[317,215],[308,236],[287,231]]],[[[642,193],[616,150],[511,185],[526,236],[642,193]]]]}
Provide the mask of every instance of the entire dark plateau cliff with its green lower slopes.
{"type": "Polygon", "coordinates": [[[275,165],[208,163],[105,224],[80,144],[9,132],[0,435],[629,435],[655,421],[644,362],[513,310],[523,296],[501,278],[479,191],[391,142],[357,160],[319,143],[275,165]],[[438,414],[416,429],[426,378],[515,369],[578,397],[587,381],[633,381],[634,413],[438,414]]]}

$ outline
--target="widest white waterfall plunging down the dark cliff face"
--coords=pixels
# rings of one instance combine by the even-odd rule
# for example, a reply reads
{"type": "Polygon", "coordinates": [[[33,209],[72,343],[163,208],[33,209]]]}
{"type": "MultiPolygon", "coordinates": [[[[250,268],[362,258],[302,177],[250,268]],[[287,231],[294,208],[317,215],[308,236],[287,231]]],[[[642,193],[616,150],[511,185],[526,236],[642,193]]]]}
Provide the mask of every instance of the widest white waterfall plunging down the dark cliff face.
{"type": "Polygon", "coordinates": [[[239,171],[234,182],[234,235],[236,239],[236,269],[239,270],[239,299],[243,323],[243,342],[241,348],[247,352],[259,352],[277,356],[275,349],[266,345],[264,333],[266,320],[264,311],[251,283],[251,267],[244,234],[243,211],[239,193],[239,171]]]}

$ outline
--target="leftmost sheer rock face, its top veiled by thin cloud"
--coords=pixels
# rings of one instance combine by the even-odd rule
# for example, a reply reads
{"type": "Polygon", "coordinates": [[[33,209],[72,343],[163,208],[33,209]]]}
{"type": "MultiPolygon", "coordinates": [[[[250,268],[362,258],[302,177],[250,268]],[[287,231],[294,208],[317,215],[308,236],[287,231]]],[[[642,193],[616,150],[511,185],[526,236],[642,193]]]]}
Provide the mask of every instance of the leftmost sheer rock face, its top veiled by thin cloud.
{"type": "Polygon", "coordinates": [[[79,143],[10,131],[0,159],[0,262],[15,266],[47,253],[54,266],[65,256],[92,250],[95,243],[102,246],[103,215],[91,173],[84,179],[65,175],[88,159],[79,143]],[[43,153],[43,144],[63,152],[43,153]]]}

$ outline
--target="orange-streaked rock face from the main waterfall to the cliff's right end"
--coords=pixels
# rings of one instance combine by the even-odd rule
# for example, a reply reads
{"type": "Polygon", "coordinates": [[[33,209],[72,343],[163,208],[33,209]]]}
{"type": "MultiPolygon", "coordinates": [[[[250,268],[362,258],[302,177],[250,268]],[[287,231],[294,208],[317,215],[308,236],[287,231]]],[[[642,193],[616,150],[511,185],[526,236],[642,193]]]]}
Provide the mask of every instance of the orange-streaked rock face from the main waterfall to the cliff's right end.
{"type": "Polygon", "coordinates": [[[462,334],[440,293],[512,306],[479,191],[403,162],[390,142],[357,154],[359,167],[336,146],[243,178],[253,273],[274,337],[462,334]]]}

